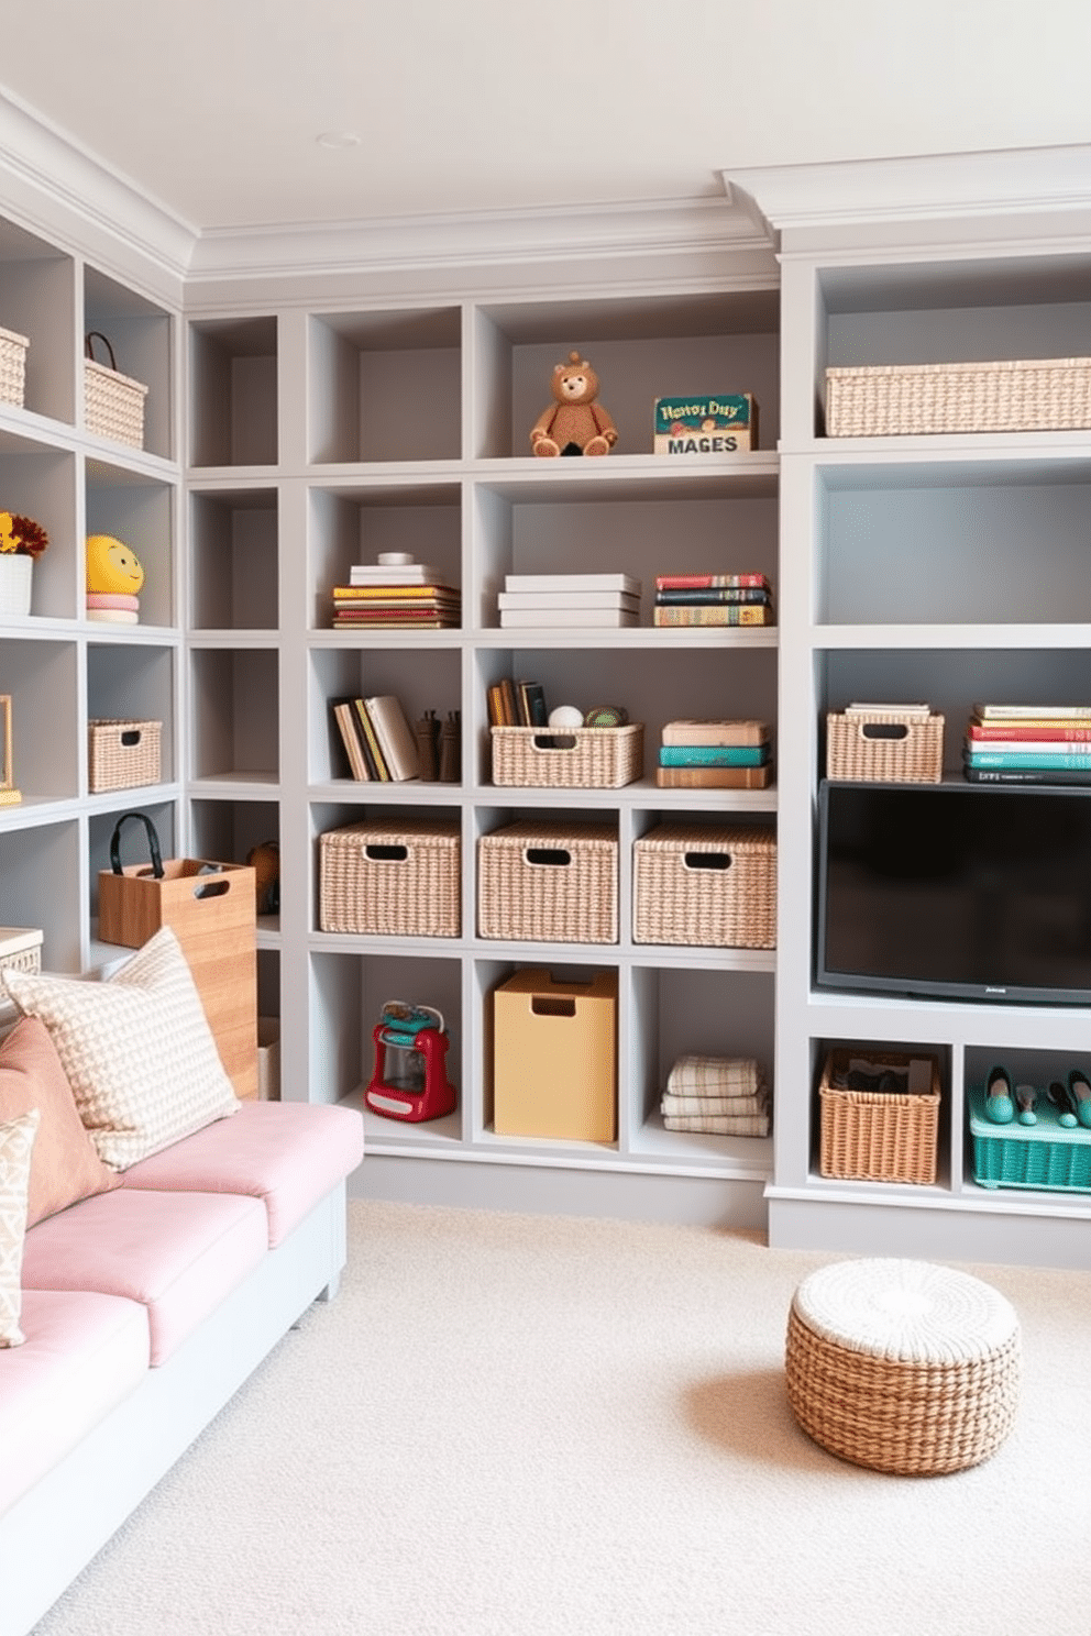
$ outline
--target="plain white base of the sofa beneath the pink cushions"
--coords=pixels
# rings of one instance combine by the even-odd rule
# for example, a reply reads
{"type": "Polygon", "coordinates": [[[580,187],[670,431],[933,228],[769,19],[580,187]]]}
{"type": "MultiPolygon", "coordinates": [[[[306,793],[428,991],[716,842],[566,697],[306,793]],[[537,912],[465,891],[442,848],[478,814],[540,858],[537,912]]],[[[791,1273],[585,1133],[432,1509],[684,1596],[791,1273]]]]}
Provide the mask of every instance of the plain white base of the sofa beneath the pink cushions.
{"type": "Polygon", "coordinates": [[[0,1518],[0,1636],[28,1636],[345,1266],[345,1183],[0,1518]]]}

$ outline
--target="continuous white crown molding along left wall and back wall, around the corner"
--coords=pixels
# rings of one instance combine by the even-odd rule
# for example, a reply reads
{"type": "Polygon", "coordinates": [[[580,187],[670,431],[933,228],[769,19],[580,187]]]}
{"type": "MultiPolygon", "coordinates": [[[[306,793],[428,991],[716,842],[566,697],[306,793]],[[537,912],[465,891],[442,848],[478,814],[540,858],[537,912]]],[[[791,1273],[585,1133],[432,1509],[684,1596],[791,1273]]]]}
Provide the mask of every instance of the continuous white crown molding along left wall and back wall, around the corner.
{"type": "MultiPolygon", "coordinates": [[[[671,268],[685,258],[746,260],[754,278],[769,240],[721,191],[682,200],[285,222],[200,229],[149,198],[67,131],[0,87],[5,209],[31,232],[64,239],[149,293],[330,276],[429,281],[430,275],[541,267],[671,268]]],[[[772,263],[770,263],[772,265],[772,263]]],[[[775,272],[775,267],[774,267],[775,272]]],[[[594,275],[592,275],[594,280],[594,275]]]]}

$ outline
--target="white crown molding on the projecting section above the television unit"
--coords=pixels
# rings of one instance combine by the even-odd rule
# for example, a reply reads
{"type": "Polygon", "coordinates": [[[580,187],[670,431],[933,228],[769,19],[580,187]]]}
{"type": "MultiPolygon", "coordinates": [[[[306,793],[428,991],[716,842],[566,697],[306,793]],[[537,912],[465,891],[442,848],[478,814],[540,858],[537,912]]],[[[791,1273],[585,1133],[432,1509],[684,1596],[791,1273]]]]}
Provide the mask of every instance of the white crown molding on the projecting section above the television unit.
{"type": "Polygon", "coordinates": [[[916,154],[721,172],[739,216],[774,249],[800,231],[1091,209],[1091,146],[916,154]]]}

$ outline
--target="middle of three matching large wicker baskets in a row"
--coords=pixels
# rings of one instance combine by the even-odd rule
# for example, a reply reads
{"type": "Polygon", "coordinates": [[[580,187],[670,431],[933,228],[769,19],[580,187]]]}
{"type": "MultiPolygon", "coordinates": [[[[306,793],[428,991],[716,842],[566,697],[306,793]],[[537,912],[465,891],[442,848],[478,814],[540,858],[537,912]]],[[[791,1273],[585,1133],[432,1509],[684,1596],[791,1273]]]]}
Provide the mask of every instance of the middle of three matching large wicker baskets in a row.
{"type": "Polygon", "coordinates": [[[530,942],[617,942],[613,825],[525,820],[483,834],[478,933],[530,942]]]}

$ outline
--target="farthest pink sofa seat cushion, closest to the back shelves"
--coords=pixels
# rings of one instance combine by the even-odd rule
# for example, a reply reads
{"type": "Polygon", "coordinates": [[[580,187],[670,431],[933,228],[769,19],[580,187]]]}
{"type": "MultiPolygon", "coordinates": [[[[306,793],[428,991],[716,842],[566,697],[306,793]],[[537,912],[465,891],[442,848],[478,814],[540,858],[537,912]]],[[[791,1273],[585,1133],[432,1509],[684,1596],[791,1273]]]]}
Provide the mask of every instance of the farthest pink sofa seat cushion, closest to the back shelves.
{"type": "Polygon", "coordinates": [[[363,1119],[353,1108],[244,1103],[232,1119],[132,1165],[123,1186],[263,1199],[273,1248],[361,1158],[363,1119]]]}

